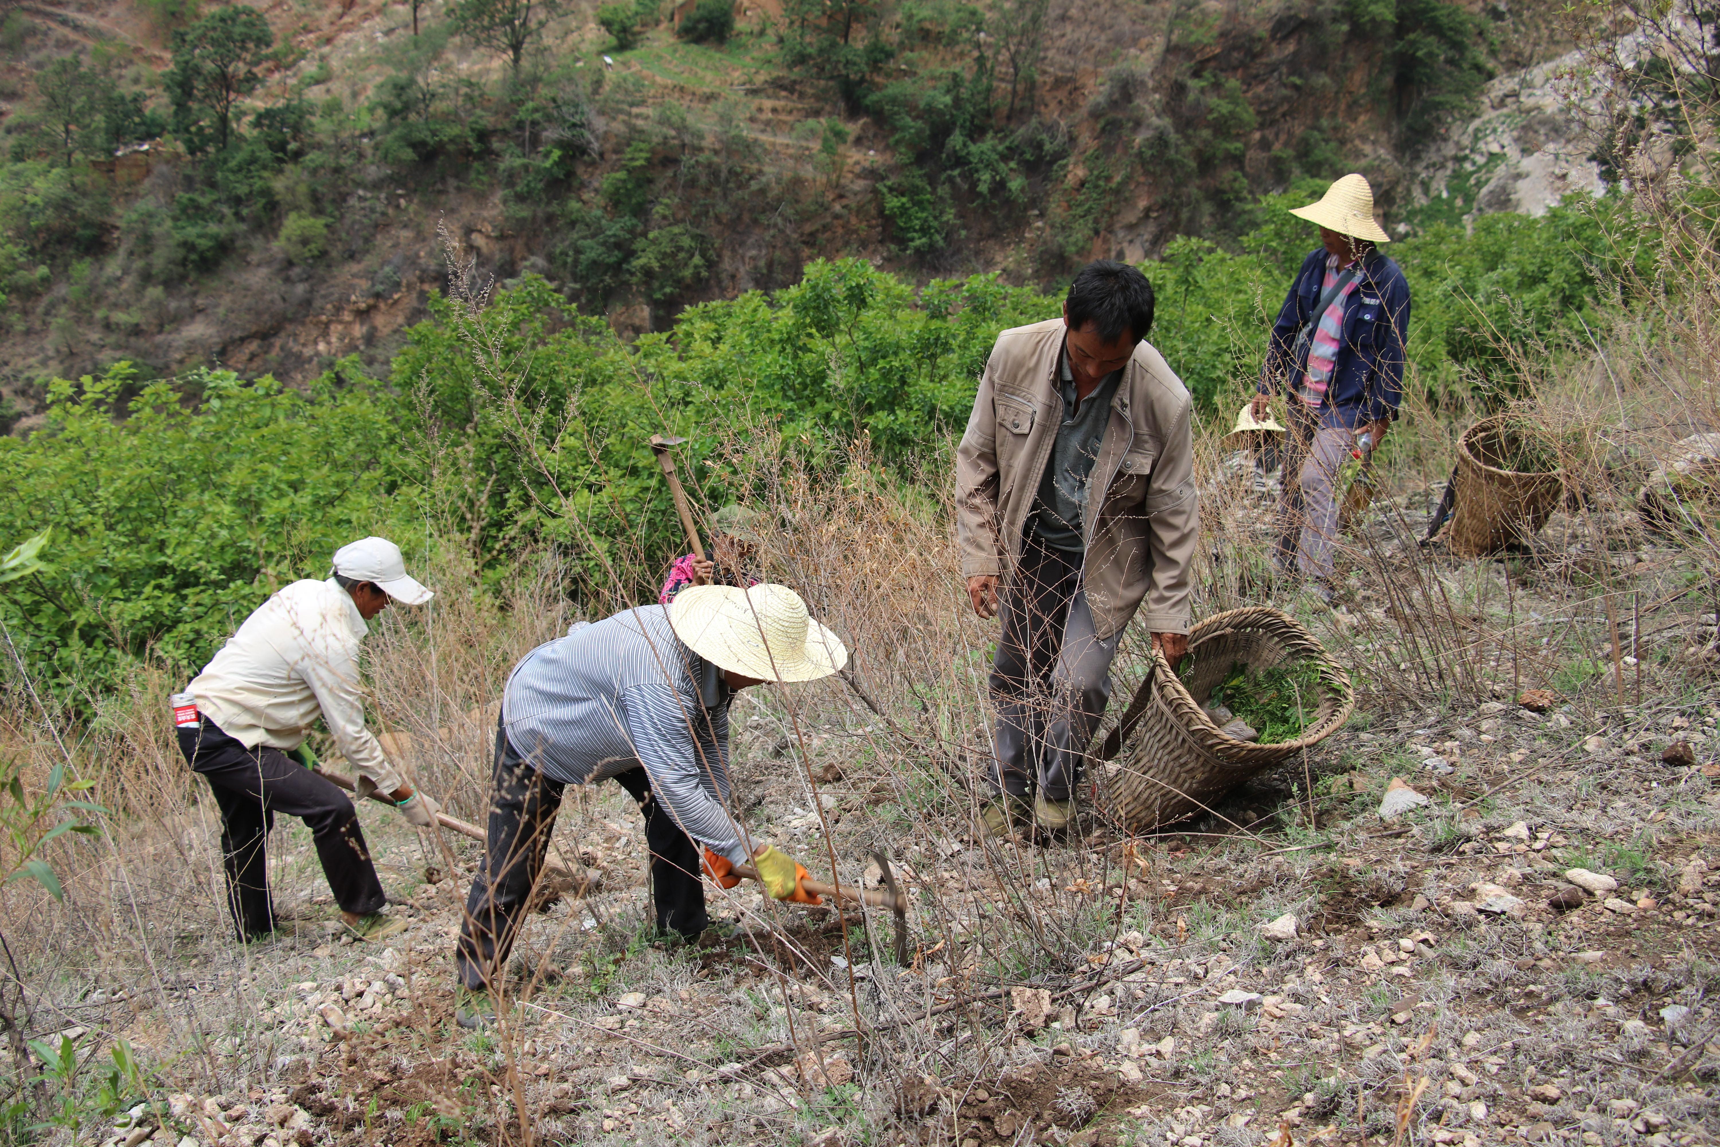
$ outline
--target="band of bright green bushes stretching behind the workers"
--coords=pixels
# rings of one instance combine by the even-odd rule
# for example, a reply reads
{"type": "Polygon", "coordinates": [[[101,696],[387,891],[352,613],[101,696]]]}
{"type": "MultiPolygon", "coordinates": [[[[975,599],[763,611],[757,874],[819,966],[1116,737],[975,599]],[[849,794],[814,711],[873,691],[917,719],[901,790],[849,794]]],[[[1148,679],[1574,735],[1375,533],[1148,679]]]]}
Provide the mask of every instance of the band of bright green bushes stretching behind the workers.
{"type": "MultiPolygon", "coordinates": [[[[1252,390],[1311,246],[1283,210],[1304,199],[1257,201],[1237,249],[1178,239],[1144,267],[1151,340],[1204,418],[1252,390]]],[[[1508,394],[1514,356],[1584,339],[1603,308],[1629,304],[1617,284],[1653,265],[1651,232],[1629,222],[1622,199],[1574,199],[1393,244],[1414,294],[1410,389],[1434,406],[1508,394]],[[1606,255],[1619,230],[1646,237],[1606,255]]],[[[62,691],[146,653],[194,671],[273,588],[325,576],[341,543],[375,531],[421,552],[456,518],[492,578],[554,545],[569,593],[648,600],[681,547],[652,433],[693,439],[710,506],[746,490],[702,463],[722,442],[771,445],[760,433],[826,473],[862,437],[905,473],[936,473],[998,332],[1060,304],[996,275],[913,287],[863,260],[815,261],[791,287],[703,303],[624,342],[528,275],[480,313],[433,299],[387,382],[342,366],[306,390],[230,371],[139,385],[124,363],[57,380],[46,425],[0,439],[0,483],[17,492],[0,502],[0,549],[53,530],[50,567],[0,586],[0,617],[62,691]]]]}

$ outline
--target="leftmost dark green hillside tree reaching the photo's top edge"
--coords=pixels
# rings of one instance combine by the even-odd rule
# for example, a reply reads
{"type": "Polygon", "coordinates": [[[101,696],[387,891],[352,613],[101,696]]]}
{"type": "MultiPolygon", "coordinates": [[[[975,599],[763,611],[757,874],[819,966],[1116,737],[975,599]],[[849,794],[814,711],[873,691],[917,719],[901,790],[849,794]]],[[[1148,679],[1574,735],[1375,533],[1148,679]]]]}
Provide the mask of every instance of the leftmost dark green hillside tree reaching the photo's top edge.
{"type": "Polygon", "coordinates": [[[273,43],[263,14],[243,3],[174,33],[174,65],[162,84],[174,103],[174,131],[191,151],[208,148],[212,126],[215,150],[227,150],[232,108],[263,83],[256,67],[273,43]]]}

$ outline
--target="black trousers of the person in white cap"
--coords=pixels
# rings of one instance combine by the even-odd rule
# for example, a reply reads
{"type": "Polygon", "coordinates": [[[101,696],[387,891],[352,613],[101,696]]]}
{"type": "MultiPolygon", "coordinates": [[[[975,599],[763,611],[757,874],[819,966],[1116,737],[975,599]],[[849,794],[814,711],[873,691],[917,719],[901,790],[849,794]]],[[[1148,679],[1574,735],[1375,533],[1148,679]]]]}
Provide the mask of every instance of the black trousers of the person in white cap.
{"type": "Polygon", "coordinates": [[[311,831],[329,891],[346,911],[380,911],[387,903],[377,865],[353,801],[325,777],[279,748],[246,748],[208,717],[179,729],[179,751],[203,774],[220,807],[220,850],[227,868],[227,906],[239,939],[275,929],[268,894],[268,831],[275,812],[301,819],[311,831]]]}

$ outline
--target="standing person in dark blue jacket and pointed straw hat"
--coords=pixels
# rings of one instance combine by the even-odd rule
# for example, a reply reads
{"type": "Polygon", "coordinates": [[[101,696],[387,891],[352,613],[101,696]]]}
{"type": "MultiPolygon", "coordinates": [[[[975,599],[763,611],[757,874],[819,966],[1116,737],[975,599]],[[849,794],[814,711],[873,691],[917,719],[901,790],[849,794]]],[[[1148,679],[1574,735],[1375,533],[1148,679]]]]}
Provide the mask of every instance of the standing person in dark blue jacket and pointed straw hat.
{"type": "Polygon", "coordinates": [[[1288,396],[1273,567],[1305,578],[1331,604],[1338,471],[1378,449],[1398,416],[1409,284],[1379,255],[1391,237],[1374,222],[1374,193],[1361,175],[1290,213],[1319,225],[1321,246],[1302,260],[1273,323],[1254,418],[1266,418],[1273,396],[1288,396]]]}

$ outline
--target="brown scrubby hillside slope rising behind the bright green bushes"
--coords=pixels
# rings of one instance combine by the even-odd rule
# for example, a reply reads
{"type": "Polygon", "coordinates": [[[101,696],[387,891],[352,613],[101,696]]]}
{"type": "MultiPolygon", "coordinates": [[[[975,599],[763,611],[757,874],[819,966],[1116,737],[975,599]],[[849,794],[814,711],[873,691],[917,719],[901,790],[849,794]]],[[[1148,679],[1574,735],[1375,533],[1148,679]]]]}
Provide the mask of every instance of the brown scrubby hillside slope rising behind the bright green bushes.
{"type": "Polygon", "coordinates": [[[726,45],[678,40],[681,9],[642,15],[621,52],[592,3],[571,3],[514,72],[451,34],[444,0],[420,7],[418,34],[406,5],[277,0],[260,7],[273,45],[237,143],[215,151],[175,131],[163,91],[194,12],[15,7],[0,418],[28,428],[43,378],[119,358],[144,375],[220,363],[299,382],[353,354],[385,371],[444,282],[439,236],[483,273],[544,273],[638,332],[820,256],[1053,282],[1176,234],[1230,241],[1256,194],[1352,169],[1390,215],[1426,199],[1422,156],[1457,167],[1486,146],[1462,122],[1491,112],[1474,98],[1491,71],[1563,46],[1545,12],[1438,0],[870,5],[857,10],[881,46],[857,79],[793,9],[736,5],[726,45]],[[53,167],[36,81],[64,57],[134,91],[163,131],[53,167]],[[62,229],[76,239],[50,241],[45,208],[19,206],[52,203],[52,179],[88,217],[62,229]]]}

